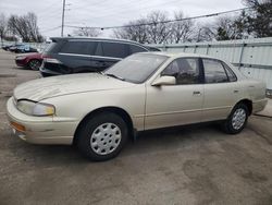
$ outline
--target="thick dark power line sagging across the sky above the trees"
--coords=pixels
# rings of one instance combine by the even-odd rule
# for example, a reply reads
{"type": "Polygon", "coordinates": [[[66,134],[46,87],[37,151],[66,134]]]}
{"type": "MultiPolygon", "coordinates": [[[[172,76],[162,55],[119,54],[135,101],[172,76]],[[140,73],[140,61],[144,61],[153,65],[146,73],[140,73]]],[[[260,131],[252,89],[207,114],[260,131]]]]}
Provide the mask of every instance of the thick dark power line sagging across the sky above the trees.
{"type": "Polygon", "coordinates": [[[72,28],[94,28],[94,29],[112,29],[112,28],[124,28],[124,27],[135,27],[135,26],[145,26],[145,25],[157,25],[157,24],[166,24],[166,23],[172,23],[172,22],[182,22],[182,21],[188,21],[188,20],[197,20],[197,19],[202,19],[202,17],[211,17],[211,16],[218,16],[226,13],[234,13],[238,11],[245,11],[245,10],[251,10],[251,7],[248,8],[243,8],[243,9],[235,9],[235,10],[228,10],[228,11],[223,11],[223,12],[218,12],[218,13],[211,13],[211,14],[205,14],[205,15],[197,15],[197,16],[191,16],[191,17],[183,17],[183,19],[176,19],[176,20],[166,20],[166,21],[161,21],[161,22],[156,22],[156,23],[143,23],[143,24],[133,24],[133,25],[121,25],[121,26],[104,26],[104,27],[96,27],[96,26],[74,26],[74,25],[65,25],[65,27],[72,27],[72,28]]]}

